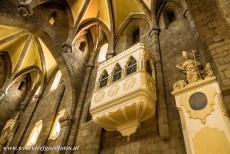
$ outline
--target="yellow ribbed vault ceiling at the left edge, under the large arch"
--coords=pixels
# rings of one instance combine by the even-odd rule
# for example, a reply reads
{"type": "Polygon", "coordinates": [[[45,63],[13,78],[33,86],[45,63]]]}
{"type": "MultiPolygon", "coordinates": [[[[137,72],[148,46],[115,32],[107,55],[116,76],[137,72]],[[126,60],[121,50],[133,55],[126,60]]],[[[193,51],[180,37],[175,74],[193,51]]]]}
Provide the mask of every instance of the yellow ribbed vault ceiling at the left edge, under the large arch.
{"type": "Polygon", "coordinates": [[[57,67],[43,41],[20,28],[0,25],[0,52],[7,52],[10,57],[12,77],[36,67],[47,78],[57,67]]]}

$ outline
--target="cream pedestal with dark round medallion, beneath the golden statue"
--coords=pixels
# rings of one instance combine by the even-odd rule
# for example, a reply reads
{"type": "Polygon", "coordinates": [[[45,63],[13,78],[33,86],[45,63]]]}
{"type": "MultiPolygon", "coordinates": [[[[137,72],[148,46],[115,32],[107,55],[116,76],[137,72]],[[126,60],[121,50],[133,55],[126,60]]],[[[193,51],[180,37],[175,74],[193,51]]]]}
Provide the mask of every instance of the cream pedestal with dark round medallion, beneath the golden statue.
{"type": "Polygon", "coordinates": [[[230,121],[215,77],[174,90],[188,154],[229,154],[230,121]]]}

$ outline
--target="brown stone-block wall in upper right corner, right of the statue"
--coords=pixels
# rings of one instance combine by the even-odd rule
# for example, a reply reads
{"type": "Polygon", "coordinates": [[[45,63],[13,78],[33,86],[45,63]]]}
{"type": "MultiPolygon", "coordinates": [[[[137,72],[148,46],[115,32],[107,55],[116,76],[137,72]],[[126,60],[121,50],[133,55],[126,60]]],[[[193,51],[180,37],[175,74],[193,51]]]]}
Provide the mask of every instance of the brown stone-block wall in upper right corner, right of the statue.
{"type": "MultiPolygon", "coordinates": [[[[216,0],[187,1],[202,42],[208,47],[216,66],[221,90],[230,95],[230,26],[216,0]]],[[[225,98],[230,108],[230,99],[225,98]]]]}

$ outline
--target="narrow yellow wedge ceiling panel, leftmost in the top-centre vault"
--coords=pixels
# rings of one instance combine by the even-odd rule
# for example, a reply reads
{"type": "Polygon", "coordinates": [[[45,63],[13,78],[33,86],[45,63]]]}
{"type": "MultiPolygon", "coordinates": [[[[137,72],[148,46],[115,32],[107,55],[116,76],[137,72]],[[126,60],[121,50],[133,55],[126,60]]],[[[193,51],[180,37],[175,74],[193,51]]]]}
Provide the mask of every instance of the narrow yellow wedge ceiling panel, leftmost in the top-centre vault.
{"type": "Polygon", "coordinates": [[[84,0],[67,0],[67,2],[69,6],[71,7],[71,11],[72,11],[74,23],[75,23],[85,1],[84,0]]]}

